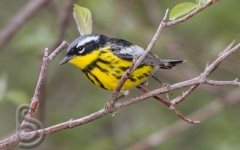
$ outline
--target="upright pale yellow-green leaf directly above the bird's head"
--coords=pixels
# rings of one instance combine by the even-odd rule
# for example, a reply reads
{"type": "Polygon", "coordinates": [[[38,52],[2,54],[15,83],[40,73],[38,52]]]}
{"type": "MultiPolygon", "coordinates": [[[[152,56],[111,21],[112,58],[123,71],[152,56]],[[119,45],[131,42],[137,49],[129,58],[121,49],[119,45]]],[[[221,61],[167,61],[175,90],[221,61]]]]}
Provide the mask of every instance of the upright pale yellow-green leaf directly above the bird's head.
{"type": "Polygon", "coordinates": [[[73,17],[81,35],[92,33],[92,15],[89,9],[74,4],[73,17]]]}

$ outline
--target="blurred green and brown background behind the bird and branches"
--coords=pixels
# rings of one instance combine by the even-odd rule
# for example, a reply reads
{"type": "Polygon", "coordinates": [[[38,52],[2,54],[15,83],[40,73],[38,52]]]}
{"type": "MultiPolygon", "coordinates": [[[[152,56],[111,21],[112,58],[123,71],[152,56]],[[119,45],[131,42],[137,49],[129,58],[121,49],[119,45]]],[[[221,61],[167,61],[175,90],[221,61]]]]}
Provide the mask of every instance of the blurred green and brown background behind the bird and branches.
{"type": "MultiPolygon", "coordinates": [[[[0,1],[0,31],[28,2],[0,1]]],[[[123,38],[146,48],[166,9],[182,2],[185,1],[76,0],[74,3],[92,12],[94,33],[123,38]]],[[[58,39],[59,18],[65,11],[66,3],[64,0],[48,2],[0,48],[0,140],[15,132],[17,107],[30,103],[38,79],[41,56],[44,49],[52,47],[58,39]]],[[[155,76],[170,84],[194,78],[234,39],[239,43],[239,6],[239,0],[221,0],[188,21],[165,28],[152,52],[161,58],[185,59],[187,62],[174,70],[159,70],[155,76]]],[[[79,36],[72,14],[66,30],[62,32],[63,39],[68,42],[79,36]]],[[[47,69],[46,86],[35,114],[35,118],[41,120],[45,127],[98,111],[111,97],[110,91],[94,86],[75,66],[59,66],[64,56],[65,51],[47,69]]],[[[239,78],[239,57],[240,53],[237,52],[228,58],[209,78],[239,78]]],[[[150,79],[148,89],[159,87],[160,84],[150,79]]],[[[185,90],[187,88],[173,91],[170,99],[185,90]]],[[[233,90],[239,91],[239,88],[201,85],[176,107],[184,115],[189,115],[213,101],[221,103],[231,100],[232,97],[226,95],[233,90]]],[[[141,91],[133,89],[126,99],[139,94],[141,91]]],[[[200,125],[190,125],[191,128],[151,149],[237,150],[240,147],[239,108],[239,103],[234,103],[216,114],[198,114],[207,115],[207,119],[200,120],[200,125]]],[[[215,109],[215,105],[212,109],[215,109]]],[[[47,135],[44,142],[34,149],[127,149],[179,121],[183,122],[165,105],[149,98],[118,110],[114,117],[107,115],[86,125],[47,135]]],[[[183,126],[189,124],[184,123],[183,126]]],[[[20,148],[15,144],[7,149],[20,148]]]]}

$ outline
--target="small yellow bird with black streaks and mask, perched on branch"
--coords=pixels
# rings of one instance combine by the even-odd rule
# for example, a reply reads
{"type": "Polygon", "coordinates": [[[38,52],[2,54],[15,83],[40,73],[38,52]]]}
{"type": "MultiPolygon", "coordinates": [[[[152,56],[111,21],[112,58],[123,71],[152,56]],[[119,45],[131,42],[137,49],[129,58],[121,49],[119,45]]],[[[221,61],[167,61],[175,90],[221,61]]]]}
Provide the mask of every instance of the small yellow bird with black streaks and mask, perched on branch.
{"type": "MultiPolygon", "coordinates": [[[[60,65],[69,62],[79,67],[93,84],[103,89],[114,90],[124,72],[131,66],[133,58],[143,53],[143,48],[123,39],[86,34],[69,45],[66,57],[60,65]]],[[[128,93],[129,89],[145,82],[159,68],[172,69],[183,62],[159,59],[150,52],[126,80],[121,92],[128,93]]]]}

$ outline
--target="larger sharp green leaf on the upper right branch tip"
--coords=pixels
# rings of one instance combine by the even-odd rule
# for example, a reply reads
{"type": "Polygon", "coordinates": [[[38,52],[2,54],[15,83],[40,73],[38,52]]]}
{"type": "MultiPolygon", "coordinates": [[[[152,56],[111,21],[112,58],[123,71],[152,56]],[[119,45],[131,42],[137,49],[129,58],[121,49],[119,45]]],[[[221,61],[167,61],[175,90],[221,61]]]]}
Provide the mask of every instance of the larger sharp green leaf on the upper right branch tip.
{"type": "Polygon", "coordinates": [[[178,4],[171,10],[169,20],[175,20],[176,18],[185,15],[198,7],[199,5],[188,2],[178,4]]]}

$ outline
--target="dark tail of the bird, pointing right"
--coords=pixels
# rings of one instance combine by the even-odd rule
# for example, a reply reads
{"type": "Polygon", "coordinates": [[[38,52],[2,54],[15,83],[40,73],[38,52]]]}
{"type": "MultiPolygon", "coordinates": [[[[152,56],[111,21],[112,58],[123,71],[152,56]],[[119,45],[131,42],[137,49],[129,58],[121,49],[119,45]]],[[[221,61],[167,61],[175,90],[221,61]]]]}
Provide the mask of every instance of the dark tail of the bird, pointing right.
{"type": "Polygon", "coordinates": [[[160,59],[162,62],[159,67],[161,69],[173,69],[176,65],[184,63],[186,60],[170,60],[170,59],[160,59]]]}

